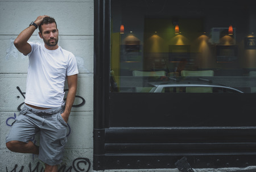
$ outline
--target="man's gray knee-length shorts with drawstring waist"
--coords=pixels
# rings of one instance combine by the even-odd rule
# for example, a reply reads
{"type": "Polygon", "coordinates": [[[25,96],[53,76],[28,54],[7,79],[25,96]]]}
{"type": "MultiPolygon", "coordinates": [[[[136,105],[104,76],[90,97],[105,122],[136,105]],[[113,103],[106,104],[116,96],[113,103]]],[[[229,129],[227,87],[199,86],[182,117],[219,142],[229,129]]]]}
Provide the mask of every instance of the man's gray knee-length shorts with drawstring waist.
{"type": "Polygon", "coordinates": [[[28,143],[40,132],[39,159],[48,165],[62,162],[67,143],[68,124],[61,117],[64,107],[39,110],[25,105],[6,137],[6,143],[18,140],[28,143]]]}

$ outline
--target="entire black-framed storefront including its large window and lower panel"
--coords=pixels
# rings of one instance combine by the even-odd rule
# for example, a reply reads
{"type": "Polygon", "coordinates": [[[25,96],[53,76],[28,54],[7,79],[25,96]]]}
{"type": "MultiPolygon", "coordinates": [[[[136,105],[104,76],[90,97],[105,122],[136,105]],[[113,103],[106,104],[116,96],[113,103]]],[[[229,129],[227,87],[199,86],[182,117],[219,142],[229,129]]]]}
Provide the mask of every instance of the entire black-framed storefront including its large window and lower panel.
{"type": "Polygon", "coordinates": [[[94,169],[255,166],[255,2],[94,2],[94,169]]]}

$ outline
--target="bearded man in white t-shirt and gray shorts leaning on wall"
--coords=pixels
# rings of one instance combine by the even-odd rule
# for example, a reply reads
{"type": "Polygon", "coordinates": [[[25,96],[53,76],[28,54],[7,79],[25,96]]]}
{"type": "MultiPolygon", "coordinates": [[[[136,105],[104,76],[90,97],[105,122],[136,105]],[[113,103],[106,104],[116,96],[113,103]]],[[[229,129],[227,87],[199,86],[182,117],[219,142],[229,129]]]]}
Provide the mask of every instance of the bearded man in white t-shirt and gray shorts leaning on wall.
{"type": "Polygon", "coordinates": [[[15,119],[6,147],[13,152],[39,154],[45,171],[57,171],[67,142],[67,122],[75,100],[77,63],[75,56],[58,43],[55,19],[38,16],[15,39],[14,45],[29,58],[25,105],[15,119]],[[39,26],[44,44],[28,42],[39,26]],[[64,84],[68,81],[67,101],[64,84]],[[31,138],[40,131],[40,147],[31,138]]]}

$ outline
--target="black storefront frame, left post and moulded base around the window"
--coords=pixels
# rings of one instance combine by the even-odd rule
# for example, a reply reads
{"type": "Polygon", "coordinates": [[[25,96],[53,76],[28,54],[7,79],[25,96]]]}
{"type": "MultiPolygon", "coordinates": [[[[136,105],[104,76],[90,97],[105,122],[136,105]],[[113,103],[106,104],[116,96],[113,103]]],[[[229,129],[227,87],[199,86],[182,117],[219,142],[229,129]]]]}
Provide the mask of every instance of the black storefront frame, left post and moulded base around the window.
{"type": "MultiPolygon", "coordinates": [[[[110,105],[118,98],[126,96],[130,101],[134,96],[148,95],[110,93],[110,13],[111,0],[94,0],[93,169],[176,168],[175,162],[183,157],[187,157],[193,168],[256,165],[256,127],[253,126],[127,127],[121,123],[110,127],[110,105]],[[175,138],[176,142],[168,138],[175,138]],[[177,140],[180,144],[176,144],[177,140]]],[[[241,98],[238,94],[232,96],[241,98]]],[[[255,97],[256,94],[243,96],[246,102],[253,102],[255,97]]]]}

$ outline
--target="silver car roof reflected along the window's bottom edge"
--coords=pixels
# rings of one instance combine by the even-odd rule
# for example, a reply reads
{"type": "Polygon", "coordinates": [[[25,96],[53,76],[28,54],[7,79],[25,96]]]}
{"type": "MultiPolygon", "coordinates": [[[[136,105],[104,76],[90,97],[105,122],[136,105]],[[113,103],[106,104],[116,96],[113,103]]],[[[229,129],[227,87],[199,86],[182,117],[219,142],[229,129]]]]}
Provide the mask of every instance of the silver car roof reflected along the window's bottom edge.
{"type": "Polygon", "coordinates": [[[162,93],[162,92],[198,92],[198,93],[243,93],[242,91],[226,87],[224,85],[216,84],[190,84],[190,83],[164,83],[157,84],[151,83],[154,87],[151,89],[151,93],[162,93]]]}

